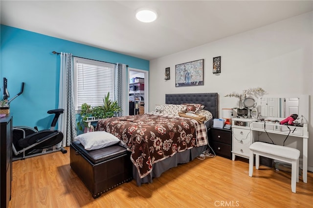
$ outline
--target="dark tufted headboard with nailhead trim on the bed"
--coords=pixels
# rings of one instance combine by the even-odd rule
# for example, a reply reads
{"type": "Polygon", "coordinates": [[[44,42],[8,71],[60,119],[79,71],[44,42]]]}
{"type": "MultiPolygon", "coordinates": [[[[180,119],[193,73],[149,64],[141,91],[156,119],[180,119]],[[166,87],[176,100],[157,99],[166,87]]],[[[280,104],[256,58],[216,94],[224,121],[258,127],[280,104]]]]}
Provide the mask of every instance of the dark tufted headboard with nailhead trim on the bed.
{"type": "Polygon", "coordinates": [[[218,94],[214,93],[183,93],[165,94],[166,104],[194,103],[203,104],[205,110],[212,113],[213,118],[218,118],[218,94]]]}

